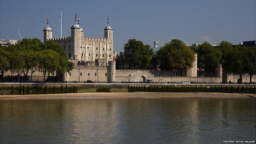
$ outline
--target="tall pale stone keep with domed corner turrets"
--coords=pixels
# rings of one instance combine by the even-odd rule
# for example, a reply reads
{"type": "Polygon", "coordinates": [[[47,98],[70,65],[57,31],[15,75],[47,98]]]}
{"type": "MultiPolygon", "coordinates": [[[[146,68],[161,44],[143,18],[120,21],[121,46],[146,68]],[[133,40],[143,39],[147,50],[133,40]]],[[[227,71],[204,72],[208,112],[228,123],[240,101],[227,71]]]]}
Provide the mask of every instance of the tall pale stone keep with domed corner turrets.
{"type": "Polygon", "coordinates": [[[113,29],[109,26],[109,18],[107,23],[104,28],[104,38],[84,37],[84,31],[79,26],[79,18],[75,16],[75,23],[70,28],[70,37],[52,38],[52,29],[47,18],[47,26],[43,30],[44,42],[54,41],[63,46],[70,60],[94,62],[97,59],[103,65],[108,61],[113,61],[113,29]]]}

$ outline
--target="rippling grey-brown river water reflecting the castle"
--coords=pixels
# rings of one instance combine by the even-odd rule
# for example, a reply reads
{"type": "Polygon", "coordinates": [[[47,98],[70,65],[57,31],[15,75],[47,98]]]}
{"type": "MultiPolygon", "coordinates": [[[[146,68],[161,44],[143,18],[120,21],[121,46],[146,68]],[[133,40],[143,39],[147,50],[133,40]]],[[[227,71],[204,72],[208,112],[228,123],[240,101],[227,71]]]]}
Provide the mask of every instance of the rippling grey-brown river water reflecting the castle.
{"type": "Polygon", "coordinates": [[[254,98],[1,100],[1,143],[255,141],[254,98]]]}

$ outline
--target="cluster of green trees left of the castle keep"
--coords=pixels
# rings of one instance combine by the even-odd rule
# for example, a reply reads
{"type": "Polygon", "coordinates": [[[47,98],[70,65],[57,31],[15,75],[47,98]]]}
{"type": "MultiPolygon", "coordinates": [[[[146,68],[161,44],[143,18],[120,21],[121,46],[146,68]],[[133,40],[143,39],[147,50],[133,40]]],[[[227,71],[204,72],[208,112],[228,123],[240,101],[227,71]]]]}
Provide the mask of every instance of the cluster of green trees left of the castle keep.
{"type": "Polygon", "coordinates": [[[30,80],[35,71],[41,71],[45,75],[69,72],[73,69],[73,63],[69,62],[66,53],[60,45],[53,41],[46,44],[39,39],[22,39],[16,45],[1,45],[1,79],[8,70],[27,76],[30,72],[30,80]]]}

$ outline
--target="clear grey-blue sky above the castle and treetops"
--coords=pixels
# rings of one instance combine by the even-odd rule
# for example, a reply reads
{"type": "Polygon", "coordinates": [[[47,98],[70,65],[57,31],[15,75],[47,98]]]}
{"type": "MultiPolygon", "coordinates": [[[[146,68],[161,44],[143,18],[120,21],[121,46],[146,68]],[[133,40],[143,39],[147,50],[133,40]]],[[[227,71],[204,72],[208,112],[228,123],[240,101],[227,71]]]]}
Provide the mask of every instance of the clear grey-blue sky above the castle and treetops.
{"type": "Polygon", "coordinates": [[[219,44],[222,40],[233,44],[256,39],[255,0],[147,0],[147,1],[0,1],[0,39],[39,38],[43,41],[46,17],[53,30],[53,38],[70,36],[74,14],[80,18],[84,36],[104,38],[109,15],[113,28],[115,51],[123,51],[129,39],[142,41],[153,47],[154,40],[163,46],[172,39],[186,45],[207,41],[219,44]]]}

